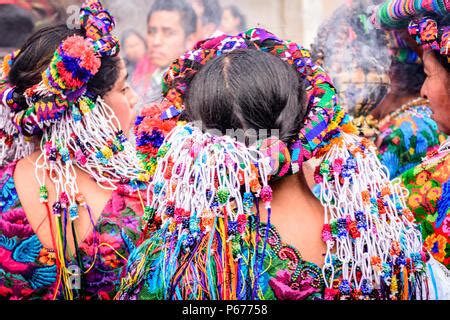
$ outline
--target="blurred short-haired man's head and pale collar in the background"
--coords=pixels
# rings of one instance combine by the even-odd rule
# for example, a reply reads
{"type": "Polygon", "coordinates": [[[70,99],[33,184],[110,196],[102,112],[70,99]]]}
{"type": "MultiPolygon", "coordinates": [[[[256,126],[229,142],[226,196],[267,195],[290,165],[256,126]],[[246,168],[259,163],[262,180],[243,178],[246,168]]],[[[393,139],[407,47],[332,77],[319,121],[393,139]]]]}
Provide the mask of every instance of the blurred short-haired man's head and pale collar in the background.
{"type": "MultiPolygon", "coordinates": [[[[197,40],[197,16],[185,0],[156,0],[147,18],[149,62],[156,69],[144,92],[144,104],[158,102],[170,64],[197,40]]],[[[141,91],[141,90],[138,90],[141,91]]]]}

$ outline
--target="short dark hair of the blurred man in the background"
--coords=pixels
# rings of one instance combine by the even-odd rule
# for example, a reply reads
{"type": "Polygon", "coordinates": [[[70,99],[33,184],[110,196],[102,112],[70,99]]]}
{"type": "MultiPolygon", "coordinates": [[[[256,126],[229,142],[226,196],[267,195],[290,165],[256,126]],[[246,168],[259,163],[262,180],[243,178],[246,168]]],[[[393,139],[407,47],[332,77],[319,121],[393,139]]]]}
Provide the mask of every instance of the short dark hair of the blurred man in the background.
{"type": "Polygon", "coordinates": [[[147,16],[147,23],[155,12],[175,11],[181,16],[181,23],[186,37],[197,32],[197,15],[192,6],[185,0],[156,0],[150,8],[147,16]]]}

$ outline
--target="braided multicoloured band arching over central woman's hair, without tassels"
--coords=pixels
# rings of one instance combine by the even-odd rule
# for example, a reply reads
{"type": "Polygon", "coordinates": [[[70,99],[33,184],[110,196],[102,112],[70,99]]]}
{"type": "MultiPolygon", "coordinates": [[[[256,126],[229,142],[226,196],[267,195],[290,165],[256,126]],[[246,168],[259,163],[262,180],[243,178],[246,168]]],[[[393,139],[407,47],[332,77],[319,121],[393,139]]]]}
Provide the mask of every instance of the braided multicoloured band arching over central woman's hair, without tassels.
{"type": "MultiPolygon", "coordinates": [[[[150,173],[156,164],[159,145],[158,140],[148,141],[148,138],[164,136],[170,131],[151,125],[154,122],[152,118],[159,116],[162,121],[170,120],[172,123],[179,119],[185,109],[184,95],[190,79],[212,58],[237,49],[256,49],[271,53],[295,66],[306,82],[309,112],[298,139],[288,145],[292,162],[290,169],[283,172],[284,175],[299,172],[305,161],[315,157],[320,149],[327,148],[331,138],[339,136],[342,131],[353,130],[350,125],[345,125],[349,123],[349,118],[337,103],[331,79],[320,66],[314,64],[308,50],[296,43],[283,41],[264,29],[251,29],[237,36],[223,35],[200,42],[194,50],[184,54],[169,68],[163,84],[165,98],[159,110],[153,106],[151,111],[144,110],[144,114],[148,113],[149,116],[139,119],[136,126],[137,149],[150,173]],[[149,144],[153,148],[149,148],[149,144]]],[[[283,166],[280,167],[282,168],[283,166]]]]}

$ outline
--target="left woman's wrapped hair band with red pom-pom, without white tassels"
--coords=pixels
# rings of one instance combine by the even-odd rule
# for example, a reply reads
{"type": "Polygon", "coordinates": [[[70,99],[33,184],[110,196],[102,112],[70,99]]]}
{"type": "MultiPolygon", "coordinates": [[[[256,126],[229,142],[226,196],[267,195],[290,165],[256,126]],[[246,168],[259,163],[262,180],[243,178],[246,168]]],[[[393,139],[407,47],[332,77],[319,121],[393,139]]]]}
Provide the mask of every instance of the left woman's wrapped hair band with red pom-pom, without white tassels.
{"type": "Polygon", "coordinates": [[[83,4],[80,22],[86,38],[74,35],[65,39],[43,72],[42,83],[26,93],[31,106],[14,119],[25,135],[40,135],[45,127],[59,121],[70,105],[88,94],[87,84],[99,71],[101,58],[119,54],[119,41],[111,34],[114,18],[99,1],[83,4]],[[46,100],[46,105],[40,100],[46,100]]]}

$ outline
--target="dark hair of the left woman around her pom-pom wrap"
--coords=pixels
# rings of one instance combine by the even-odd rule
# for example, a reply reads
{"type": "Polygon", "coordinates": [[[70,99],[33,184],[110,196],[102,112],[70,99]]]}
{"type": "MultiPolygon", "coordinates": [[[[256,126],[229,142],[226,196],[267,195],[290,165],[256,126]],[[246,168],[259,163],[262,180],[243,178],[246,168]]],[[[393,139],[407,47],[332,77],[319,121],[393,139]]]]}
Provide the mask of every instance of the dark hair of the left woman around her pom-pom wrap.
{"type": "MultiPolygon", "coordinates": [[[[73,35],[84,36],[84,31],[57,25],[37,31],[26,41],[11,67],[8,79],[16,87],[18,99],[23,99],[25,90],[41,82],[42,72],[50,64],[58,46],[73,35]]],[[[119,57],[102,58],[99,72],[88,83],[90,94],[103,96],[114,87],[119,78],[119,61],[119,57]]]]}

